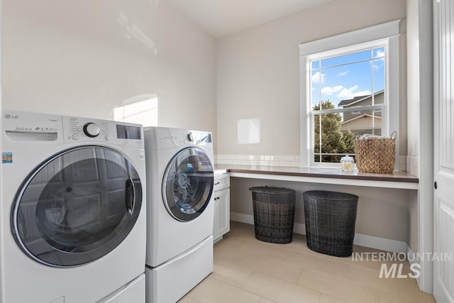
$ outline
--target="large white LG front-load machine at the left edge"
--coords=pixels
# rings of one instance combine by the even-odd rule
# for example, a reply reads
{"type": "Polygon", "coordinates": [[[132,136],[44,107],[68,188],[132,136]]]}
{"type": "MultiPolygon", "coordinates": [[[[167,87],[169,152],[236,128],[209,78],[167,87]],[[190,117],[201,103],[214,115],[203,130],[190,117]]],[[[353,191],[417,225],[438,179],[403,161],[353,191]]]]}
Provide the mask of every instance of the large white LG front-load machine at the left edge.
{"type": "Polygon", "coordinates": [[[142,126],[2,115],[0,302],[145,302],[142,126]]]}

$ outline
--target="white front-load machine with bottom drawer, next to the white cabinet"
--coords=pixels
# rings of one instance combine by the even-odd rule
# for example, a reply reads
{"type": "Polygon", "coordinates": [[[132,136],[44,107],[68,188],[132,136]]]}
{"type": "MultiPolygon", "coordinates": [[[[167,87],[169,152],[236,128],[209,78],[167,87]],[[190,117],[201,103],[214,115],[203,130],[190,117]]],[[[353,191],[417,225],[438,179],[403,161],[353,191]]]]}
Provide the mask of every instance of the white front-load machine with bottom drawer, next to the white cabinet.
{"type": "Polygon", "coordinates": [[[213,271],[211,133],[144,128],[147,166],[146,300],[177,302],[213,271]]]}

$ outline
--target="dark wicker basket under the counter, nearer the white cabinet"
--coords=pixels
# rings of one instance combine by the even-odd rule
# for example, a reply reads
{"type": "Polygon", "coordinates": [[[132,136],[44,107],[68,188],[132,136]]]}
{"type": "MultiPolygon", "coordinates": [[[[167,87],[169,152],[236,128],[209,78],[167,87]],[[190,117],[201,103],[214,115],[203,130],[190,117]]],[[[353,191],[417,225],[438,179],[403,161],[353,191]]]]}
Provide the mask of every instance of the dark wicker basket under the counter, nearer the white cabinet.
{"type": "Polygon", "coordinates": [[[293,189],[251,187],[255,238],[270,243],[290,243],[293,238],[296,193],[293,189]]]}

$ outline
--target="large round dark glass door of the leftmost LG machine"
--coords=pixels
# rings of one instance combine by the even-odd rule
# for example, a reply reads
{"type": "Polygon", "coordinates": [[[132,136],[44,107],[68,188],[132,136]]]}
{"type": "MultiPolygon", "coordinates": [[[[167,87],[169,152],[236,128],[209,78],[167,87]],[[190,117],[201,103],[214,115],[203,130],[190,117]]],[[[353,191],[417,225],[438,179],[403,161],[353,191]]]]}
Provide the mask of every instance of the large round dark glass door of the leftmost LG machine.
{"type": "Polygon", "coordinates": [[[137,171],[109,148],[66,150],[23,182],[11,212],[13,236],[33,260],[67,267],[114,250],[138,219],[137,171]]]}

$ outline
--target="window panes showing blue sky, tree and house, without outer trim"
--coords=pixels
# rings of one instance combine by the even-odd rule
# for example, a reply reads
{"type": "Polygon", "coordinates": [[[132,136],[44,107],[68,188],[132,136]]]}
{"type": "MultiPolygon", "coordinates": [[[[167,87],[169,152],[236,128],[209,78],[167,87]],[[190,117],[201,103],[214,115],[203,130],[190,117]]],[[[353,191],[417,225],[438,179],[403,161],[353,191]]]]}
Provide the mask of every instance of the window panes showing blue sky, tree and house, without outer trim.
{"type": "Polygon", "coordinates": [[[355,153],[355,136],[382,134],[386,41],[362,47],[309,56],[314,163],[338,163],[355,153]]]}

